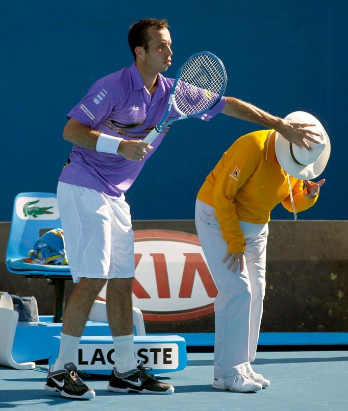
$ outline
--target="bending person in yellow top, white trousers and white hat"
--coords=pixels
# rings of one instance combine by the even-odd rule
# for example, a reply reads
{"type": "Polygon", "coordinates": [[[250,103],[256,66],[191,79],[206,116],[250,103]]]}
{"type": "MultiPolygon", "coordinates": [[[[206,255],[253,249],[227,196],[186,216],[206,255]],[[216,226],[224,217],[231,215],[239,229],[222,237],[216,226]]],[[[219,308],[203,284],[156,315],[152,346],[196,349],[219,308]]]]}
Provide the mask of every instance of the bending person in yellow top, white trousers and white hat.
{"type": "Polygon", "coordinates": [[[325,180],[330,140],[318,120],[305,112],[287,119],[316,124],[320,144],[301,150],[275,130],[237,139],[207,176],[197,195],[198,236],[218,288],[215,299],[214,382],[217,390],[255,392],[269,380],[254,372],[265,295],[270,211],[278,204],[307,210],[325,180]]]}

